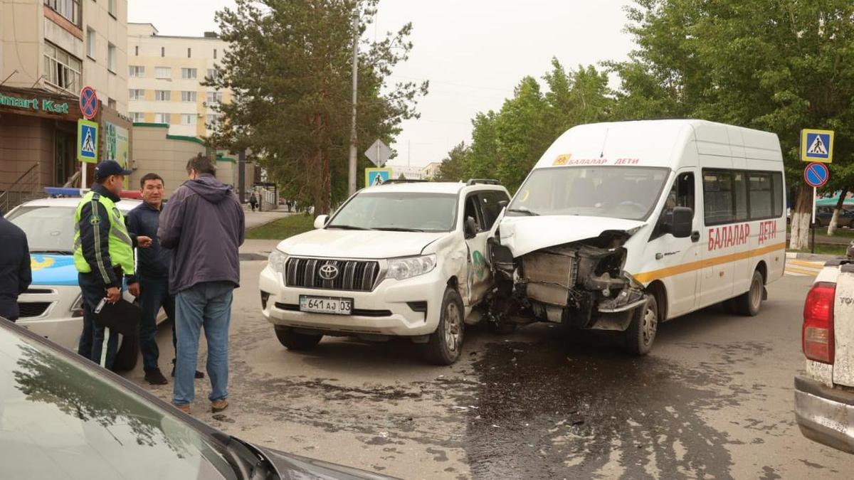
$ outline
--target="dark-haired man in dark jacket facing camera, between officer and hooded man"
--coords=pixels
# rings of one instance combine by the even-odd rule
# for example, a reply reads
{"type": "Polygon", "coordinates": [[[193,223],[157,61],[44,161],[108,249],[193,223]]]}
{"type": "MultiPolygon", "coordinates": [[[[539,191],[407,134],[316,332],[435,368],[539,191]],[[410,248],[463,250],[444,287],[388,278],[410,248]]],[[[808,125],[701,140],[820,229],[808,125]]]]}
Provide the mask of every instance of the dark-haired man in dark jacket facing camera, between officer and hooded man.
{"type": "MultiPolygon", "coordinates": [[[[161,307],[172,320],[172,344],[176,351],[178,347],[175,336],[175,296],[169,293],[169,264],[172,262],[172,253],[161,247],[157,240],[157,226],[160,224],[163,190],[166,185],[157,173],[146,173],[140,179],[139,186],[143,202],[127,214],[127,230],[132,235],[152,238],[148,249],[137,250],[139,305],[143,309],[139,322],[139,349],[143,354],[145,381],[152,385],[165,385],[168,382],[158,365],[160,349],[157,348],[155,338],[157,313],[161,307]]],[[[196,372],[196,378],[204,377],[202,372],[196,372]]]]}

